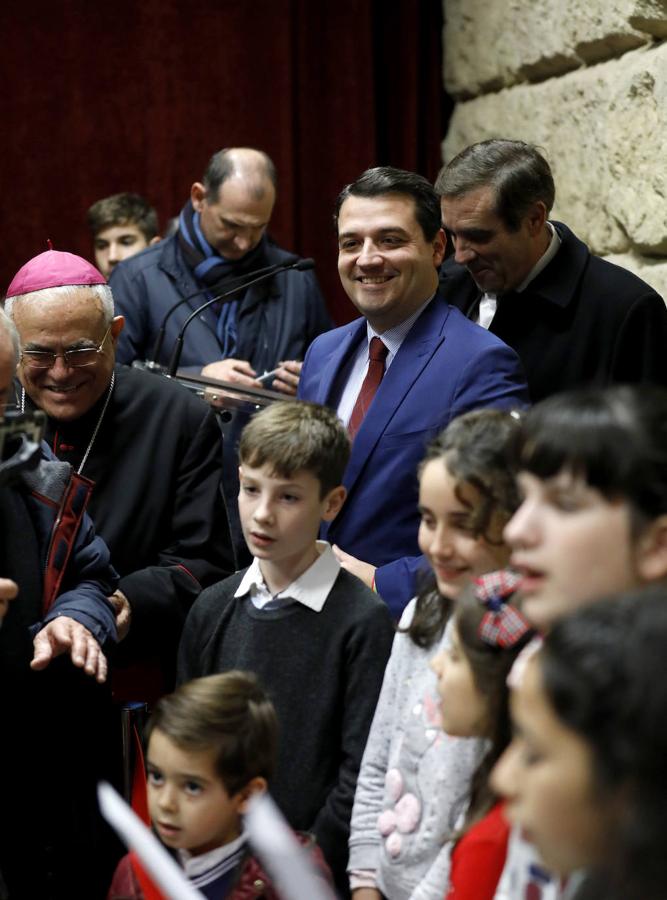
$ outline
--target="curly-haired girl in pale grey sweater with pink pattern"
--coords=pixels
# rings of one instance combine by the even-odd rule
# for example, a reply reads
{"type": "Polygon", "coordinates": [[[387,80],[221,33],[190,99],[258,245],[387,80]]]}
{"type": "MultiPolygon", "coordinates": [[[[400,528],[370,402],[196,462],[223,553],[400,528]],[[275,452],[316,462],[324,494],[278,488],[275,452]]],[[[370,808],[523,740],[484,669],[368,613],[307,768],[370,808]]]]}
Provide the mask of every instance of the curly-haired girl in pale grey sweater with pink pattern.
{"type": "Polygon", "coordinates": [[[432,572],[401,619],[361,764],[348,865],[354,900],[442,898],[444,844],[482,745],[441,731],[429,660],[449,640],[461,591],[507,562],[502,529],[518,497],[506,448],[517,428],[509,413],[467,413],[433,441],[421,465],[419,545],[432,572]]]}

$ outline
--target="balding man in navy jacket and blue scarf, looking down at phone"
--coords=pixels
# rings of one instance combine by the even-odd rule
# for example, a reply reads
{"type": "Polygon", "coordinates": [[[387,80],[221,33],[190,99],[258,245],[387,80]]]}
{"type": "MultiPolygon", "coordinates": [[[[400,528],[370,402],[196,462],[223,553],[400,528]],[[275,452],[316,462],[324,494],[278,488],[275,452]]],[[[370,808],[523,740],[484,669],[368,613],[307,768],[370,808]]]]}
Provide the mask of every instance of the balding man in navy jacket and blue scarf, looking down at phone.
{"type": "MultiPolygon", "coordinates": [[[[190,189],[178,231],[114,266],[109,283],[125,319],[119,362],[151,357],[164,326],[156,362],[166,364],[186,320],[203,303],[268,267],[297,261],[266,234],[276,189],[275,166],[263,151],[231,147],[213,154],[190,189]]],[[[188,326],[181,366],[294,394],[303,354],[330,327],[314,272],[276,272],[202,310],[188,326]],[[269,372],[275,377],[262,384],[258,377],[269,372]]]]}

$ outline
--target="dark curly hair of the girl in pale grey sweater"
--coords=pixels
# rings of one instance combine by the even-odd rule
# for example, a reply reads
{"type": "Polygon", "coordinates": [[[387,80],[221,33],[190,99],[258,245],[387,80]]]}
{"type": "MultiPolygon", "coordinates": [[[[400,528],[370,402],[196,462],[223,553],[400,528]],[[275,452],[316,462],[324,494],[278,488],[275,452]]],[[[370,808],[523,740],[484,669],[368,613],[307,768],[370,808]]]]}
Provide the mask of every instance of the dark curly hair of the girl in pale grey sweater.
{"type": "MultiPolygon", "coordinates": [[[[494,515],[509,520],[519,505],[510,447],[519,430],[519,416],[498,409],[479,409],[454,419],[426,448],[419,471],[433,460],[461,483],[480,495],[477,509],[470,510],[470,529],[476,537],[496,543],[489,534],[494,515]]],[[[463,503],[459,488],[456,496],[463,503]]],[[[420,590],[408,634],[418,647],[430,647],[442,636],[451,612],[451,600],[438,592],[430,577],[420,590]]]]}

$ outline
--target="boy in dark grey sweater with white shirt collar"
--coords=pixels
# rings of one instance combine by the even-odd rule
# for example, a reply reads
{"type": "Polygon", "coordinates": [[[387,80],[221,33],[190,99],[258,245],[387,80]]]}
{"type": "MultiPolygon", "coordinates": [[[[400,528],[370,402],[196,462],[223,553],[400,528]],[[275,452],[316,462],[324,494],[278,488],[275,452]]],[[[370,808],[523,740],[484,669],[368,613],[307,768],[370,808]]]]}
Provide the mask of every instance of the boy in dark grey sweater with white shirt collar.
{"type": "Polygon", "coordinates": [[[259,675],[280,723],[271,794],[293,828],[315,835],[344,893],[354,788],[394,635],[382,600],[317,540],[345,499],[349,439],[325,407],[274,403],[243,430],[239,455],[254,560],[194,603],[179,679],[259,675]]]}

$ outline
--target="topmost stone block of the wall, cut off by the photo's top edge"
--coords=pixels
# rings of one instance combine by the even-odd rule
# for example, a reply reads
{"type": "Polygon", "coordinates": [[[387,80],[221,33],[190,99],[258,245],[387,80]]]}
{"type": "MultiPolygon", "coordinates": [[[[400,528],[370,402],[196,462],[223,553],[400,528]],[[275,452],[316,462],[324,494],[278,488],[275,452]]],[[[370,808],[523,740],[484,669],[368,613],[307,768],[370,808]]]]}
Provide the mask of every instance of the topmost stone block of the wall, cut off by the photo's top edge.
{"type": "Polygon", "coordinates": [[[667,31],[667,0],[446,0],[444,75],[468,99],[621,56],[667,31]]]}

